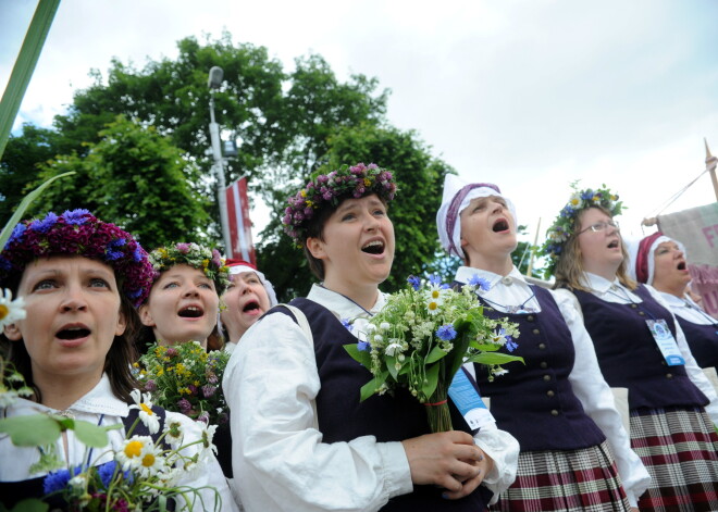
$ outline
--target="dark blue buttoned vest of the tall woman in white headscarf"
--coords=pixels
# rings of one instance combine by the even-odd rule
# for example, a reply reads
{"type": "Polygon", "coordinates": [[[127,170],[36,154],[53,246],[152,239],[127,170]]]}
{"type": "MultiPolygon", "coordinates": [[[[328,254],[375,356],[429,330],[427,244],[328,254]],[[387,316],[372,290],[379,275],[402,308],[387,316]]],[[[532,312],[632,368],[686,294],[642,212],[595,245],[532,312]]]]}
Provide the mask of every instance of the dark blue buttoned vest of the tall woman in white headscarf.
{"type": "MultiPolygon", "coordinates": [[[[606,437],[583,411],[568,376],[575,350],[571,332],[548,290],[531,286],[541,313],[510,314],[484,308],[490,319],[508,317],[519,324],[519,348],[508,373],[488,382],[484,366],[475,365],[482,395],[491,398],[496,425],[512,434],[522,451],[575,450],[601,445],[606,437]]],[[[500,350],[509,353],[506,348],[500,350]]]]}

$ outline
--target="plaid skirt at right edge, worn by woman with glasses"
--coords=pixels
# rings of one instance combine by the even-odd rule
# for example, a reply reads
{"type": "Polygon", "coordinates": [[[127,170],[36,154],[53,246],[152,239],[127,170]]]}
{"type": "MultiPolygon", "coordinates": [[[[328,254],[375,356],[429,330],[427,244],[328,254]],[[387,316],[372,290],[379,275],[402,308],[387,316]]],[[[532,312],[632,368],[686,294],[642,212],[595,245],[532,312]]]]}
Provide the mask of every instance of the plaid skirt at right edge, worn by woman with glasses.
{"type": "Polygon", "coordinates": [[[632,410],[631,447],[653,477],[641,512],[718,511],[718,435],[703,408],[632,410]]]}

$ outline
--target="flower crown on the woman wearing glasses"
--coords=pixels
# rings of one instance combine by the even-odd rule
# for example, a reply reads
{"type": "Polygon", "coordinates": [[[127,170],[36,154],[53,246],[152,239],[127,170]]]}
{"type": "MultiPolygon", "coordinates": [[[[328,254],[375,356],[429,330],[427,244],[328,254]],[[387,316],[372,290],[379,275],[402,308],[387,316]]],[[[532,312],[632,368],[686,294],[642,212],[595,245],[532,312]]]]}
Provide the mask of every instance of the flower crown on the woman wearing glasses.
{"type": "Polygon", "coordinates": [[[606,185],[602,185],[602,187],[595,190],[592,188],[578,190],[575,185],[571,185],[574,192],[546,232],[546,241],[541,247],[541,253],[548,257],[548,263],[544,270],[546,275],[554,274],[564,247],[573,235],[573,225],[579,213],[591,207],[603,207],[610,212],[611,216],[621,213],[623,204],[618,200],[618,195],[606,188],[606,185]]]}

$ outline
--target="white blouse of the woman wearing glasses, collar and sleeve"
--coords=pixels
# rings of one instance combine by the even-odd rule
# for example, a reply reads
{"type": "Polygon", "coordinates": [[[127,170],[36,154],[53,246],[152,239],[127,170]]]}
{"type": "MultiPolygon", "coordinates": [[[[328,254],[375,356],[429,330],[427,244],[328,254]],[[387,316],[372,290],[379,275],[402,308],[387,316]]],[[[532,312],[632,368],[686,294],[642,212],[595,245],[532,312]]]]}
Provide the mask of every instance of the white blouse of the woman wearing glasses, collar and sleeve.
{"type": "MultiPolygon", "coordinates": [[[[593,295],[607,302],[614,302],[618,304],[628,304],[630,302],[634,302],[634,303],[643,302],[641,297],[639,297],[636,294],[634,294],[633,291],[629,290],[627,287],[621,285],[618,278],[610,282],[598,275],[584,272],[583,280],[593,295]]],[[[649,285],[643,285],[643,286],[646,287],[646,289],[648,290],[651,296],[656,300],[656,302],[658,302],[660,305],[663,305],[669,312],[671,312],[670,305],[666,303],[666,300],[661,297],[658,290],[656,290],[653,286],[649,285]]],[[[566,289],[557,290],[557,292],[567,297],[568,298],[567,300],[569,300],[569,302],[573,304],[573,308],[575,308],[578,313],[583,317],[583,314],[581,312],[581,305],[579,304],[579,301],[573,294],[571,294],[569,290],[566,289]]],[[[671,316],[674,316],[673,313],[670,314],[671,316]]],[[[703,394],[708,398],[708,400],[710,400],[710,403],[706,405],[705,410],[708,413],[708,416],[710,416],[710,421],[713,421],[714,424],[718,425],[718,395],[716,395],[716,389],[713,387],[710,380],[708,380],[708,377],[706,377],[705,373],[703,373],[703,370],[701,370],[698,364],[695,362],[695,358],[693,358],[693,354],[691,353],[691,349],[689,348],[688,342],[685,341],[685,335],[683,334],[683,329],[681,329],[681,326],[679,325],[679,323],[676,321],[674,317],[673,317],[673,322],[676,323],[676,342],[678,344],[678,348],[681,351],[681,355],[685,361],[685,373],[688,374],[689,378],[693,382],[693,384],[695,384],[695,386],[698,389],[701,389],[701,391],[703,391],[703,394]]]]}

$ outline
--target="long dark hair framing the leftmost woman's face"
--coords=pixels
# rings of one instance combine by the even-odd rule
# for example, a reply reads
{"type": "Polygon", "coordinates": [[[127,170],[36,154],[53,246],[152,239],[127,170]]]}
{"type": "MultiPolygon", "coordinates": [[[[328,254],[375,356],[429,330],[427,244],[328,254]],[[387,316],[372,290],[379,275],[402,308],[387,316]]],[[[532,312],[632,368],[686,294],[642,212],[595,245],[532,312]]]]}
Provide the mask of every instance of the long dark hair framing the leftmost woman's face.
{"type": "MultiPolygon", "coordinates": [[[[17,292],[18,284],[20,278],[13,279],[13,283],[10,284],[13,295],[17,292]]],[[[122,290],[120,280],[117,280],[117,290],[122,290]]],[[[110,350],[104,357],[104,372],[108,374],[114,396],[129,401],[132,400],[129,391],[138,387],[132,373],[132,364],[137,361],[137,351],[132,340],[135,339],[139,326],[139,316],[125,294],[119,291],[119,295],[120,312],[124,315],[126,327],[122,335],[114,337],[110,350]]],[[[25,383],[35,390],[35,400],[41,402],[42,396],[33,380],[33,365],[25,341],[11,341],[3,333],[0,333],[0,351],[25,377],[25,383]]]]}

